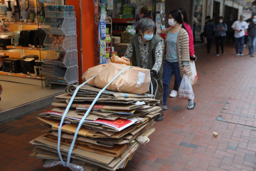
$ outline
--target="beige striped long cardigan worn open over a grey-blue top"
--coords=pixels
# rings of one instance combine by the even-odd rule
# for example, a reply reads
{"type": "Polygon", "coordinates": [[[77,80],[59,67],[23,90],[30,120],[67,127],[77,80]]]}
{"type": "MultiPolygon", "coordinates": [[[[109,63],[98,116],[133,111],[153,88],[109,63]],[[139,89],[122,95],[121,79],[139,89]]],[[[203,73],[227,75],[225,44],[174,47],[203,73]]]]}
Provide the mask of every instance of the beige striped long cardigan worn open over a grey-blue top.
{"type": "MultiPolygon", "coordinates": [[[[167,34],[168,32],[171,30],[171,28],[169,28],[167,30],[167,34]]],[[[167,34],[166,34],[166,38],[167,38],[167,34]]],[[[166,41],[164,44],[164,53],[166,52],[166,41]]],[[[191,70],[191,66],[190,66],[190,58],[189,58],[189,35],[186,32],[185,29],[180,28],[180,31],[177,35],[177,58],[178,58],[178,62],[179,62],[179,69],[180,69],[180,76],[181,78],[183,77],[183,61],[187,61],[188,65],[187,65],[187,76],[191,76],[192,75],[192,70],[191,70]]]]}

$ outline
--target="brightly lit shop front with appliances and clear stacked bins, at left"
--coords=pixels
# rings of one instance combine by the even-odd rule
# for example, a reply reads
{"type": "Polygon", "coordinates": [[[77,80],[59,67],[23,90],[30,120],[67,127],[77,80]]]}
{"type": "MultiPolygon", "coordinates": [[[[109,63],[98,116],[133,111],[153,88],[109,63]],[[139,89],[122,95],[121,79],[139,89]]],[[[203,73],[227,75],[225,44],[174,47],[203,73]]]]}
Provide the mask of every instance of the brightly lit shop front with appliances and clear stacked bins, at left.
{"type": "Polygon", "coordinates": [[[30,109],[51,104],[53,96],[62,93],[67,85],[79,83],[82,67],[80,7],[75,9],[74,1],[70,4],[68,0],[66,4],[63,0],[1,2],[0,122],[3,122],[19,116],[14,109],[23,115],[30,109]],[[30,107],[26,108],[27,105],[30,107]]]}

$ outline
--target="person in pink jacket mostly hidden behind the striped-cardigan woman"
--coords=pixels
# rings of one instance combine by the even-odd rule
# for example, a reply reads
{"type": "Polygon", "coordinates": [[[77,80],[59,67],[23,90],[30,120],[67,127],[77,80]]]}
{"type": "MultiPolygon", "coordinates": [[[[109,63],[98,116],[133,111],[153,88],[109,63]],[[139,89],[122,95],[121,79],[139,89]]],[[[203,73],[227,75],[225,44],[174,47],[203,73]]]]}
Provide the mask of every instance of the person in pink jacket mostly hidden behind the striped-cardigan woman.
{"type": "MultiPolygon", "coordinates": [[[[193,37],[192,29],[191,29],[191,27],[188,23],[186,10],[183,9],[183,8],[180,8],[179,11],[181,12],[181,15],[182,15],[182,18],[183,18],[183,24],[186,28],[186,31],[188,32],[188,35],[189,35],[189,56],[190,56],[191,60],[195,61],[194,37],[193,37]]],[[[169,27],[171,27],[171,26],[169,26],[169,27]]],[[[167,31],[167,28],[163,29],[162,32],[161,32],[161,37],[163,39],[166,38],[166,31],[167,31]]],[[[170,97],[176,97],[178,89],[179,89],[179,87],[177,86],[177,81],[175,79],[174,87],[173,87],[173,90],[170,93],[170,97]]]]}

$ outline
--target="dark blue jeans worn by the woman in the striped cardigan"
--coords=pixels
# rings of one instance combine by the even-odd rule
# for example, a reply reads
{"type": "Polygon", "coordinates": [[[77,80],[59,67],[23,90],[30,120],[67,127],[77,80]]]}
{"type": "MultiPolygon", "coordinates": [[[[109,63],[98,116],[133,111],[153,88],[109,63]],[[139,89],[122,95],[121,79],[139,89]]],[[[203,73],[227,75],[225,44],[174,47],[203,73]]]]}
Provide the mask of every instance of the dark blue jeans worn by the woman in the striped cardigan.
{"type": "Polygon", "coordinates": [[[180,87],[181,77],[178,62],[168,62],[165,60],[163,66],[163,105],[166,106],[169,96],[169,85],[174,74],[177,86],[180,87]]]}

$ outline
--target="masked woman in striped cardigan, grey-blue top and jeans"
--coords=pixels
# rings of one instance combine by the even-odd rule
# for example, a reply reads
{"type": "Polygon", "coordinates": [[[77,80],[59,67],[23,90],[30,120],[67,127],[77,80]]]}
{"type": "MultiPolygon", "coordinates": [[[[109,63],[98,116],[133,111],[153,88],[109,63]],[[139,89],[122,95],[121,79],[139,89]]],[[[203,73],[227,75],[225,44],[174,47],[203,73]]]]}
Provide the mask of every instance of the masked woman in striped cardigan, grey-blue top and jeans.
{"type": "MultiPolygon", "coordinates": [[[[172,75],[175,75],[177,86],[180,87],[183,74],[192,74],[189,65],[189,35],[186,29],[183,29],[185,26],[179,10],[169,12],[168,23],[172,27],[166,32],[166,58],[163,67],[163,110],[167,110],[166,104],[172,75]]],[[[194,107],[193,99],[189,99],[187,108],[194,109],[194,107]]]]}

